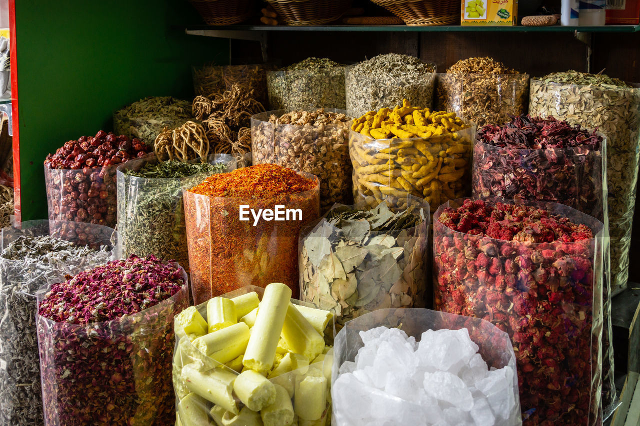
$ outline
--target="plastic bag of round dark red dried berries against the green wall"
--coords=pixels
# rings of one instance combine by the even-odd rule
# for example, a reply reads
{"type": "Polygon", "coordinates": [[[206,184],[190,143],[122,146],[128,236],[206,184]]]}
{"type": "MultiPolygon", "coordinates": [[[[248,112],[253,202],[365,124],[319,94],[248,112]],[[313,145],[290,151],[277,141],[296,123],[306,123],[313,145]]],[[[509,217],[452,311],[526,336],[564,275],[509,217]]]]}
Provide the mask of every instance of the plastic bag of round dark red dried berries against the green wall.
{"type": "MultiPolygon", "coordinates": [[[[65,142],[47,155],[44,177],[50,225],[60,225],[60,237],[73,239],[86,224],[116,225],[116,168],[144,157],[150,146],[140,139],[100,130],[92,138],[65,142]]],[[[79,241],[80,244],[86,242],[79,241]]]]}

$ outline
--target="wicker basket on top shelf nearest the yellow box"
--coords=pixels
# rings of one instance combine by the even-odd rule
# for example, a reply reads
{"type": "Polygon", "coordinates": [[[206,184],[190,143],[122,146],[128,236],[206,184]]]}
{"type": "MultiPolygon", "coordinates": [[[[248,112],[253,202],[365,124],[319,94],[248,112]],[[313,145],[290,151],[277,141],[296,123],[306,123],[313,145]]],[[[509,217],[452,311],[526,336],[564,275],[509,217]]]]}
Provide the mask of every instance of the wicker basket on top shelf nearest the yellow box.
{"type": "Polygon", "coordinates": [[[459,0],[371,0],[407,25],[460,24],[459,0]]]}

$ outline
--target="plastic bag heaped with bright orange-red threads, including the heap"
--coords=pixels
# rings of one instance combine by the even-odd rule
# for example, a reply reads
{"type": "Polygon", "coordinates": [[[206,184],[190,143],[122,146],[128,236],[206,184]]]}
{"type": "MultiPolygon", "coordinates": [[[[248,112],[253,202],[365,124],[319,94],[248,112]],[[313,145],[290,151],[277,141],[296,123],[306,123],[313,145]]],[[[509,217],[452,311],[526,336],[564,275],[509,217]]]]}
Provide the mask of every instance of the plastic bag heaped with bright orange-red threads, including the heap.
{"type": "Polygon", "coordinates": [[[257,164],[184,191],[191,293],[196,304],[252,284],[298,295],[298,234],[319,216],[319,181],[257,164]]]}

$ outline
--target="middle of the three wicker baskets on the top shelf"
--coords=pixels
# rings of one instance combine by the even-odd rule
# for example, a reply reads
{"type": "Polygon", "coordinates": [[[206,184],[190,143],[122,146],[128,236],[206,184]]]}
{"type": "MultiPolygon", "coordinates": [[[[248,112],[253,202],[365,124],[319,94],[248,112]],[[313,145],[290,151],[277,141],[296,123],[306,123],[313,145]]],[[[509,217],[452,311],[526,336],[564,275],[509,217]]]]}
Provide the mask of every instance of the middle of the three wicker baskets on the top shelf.
{"type": "Polygon", "coordinates": [[[340,19],[351,0],[266,0],[287,25],[322,25],[340,19]]]}

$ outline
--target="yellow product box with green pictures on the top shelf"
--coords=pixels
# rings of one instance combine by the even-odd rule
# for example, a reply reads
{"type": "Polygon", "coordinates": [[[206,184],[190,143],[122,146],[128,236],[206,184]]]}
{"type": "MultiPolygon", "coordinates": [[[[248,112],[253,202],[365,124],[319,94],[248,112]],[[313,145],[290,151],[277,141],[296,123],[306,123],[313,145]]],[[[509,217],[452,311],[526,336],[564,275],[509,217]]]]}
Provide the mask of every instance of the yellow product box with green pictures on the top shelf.
{"type": "Polygon", "coordinates": [[[518,25],[518,0],[462,0],[460,24],[518,25]]]}

